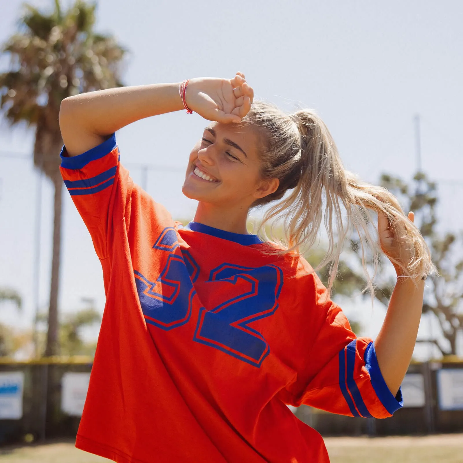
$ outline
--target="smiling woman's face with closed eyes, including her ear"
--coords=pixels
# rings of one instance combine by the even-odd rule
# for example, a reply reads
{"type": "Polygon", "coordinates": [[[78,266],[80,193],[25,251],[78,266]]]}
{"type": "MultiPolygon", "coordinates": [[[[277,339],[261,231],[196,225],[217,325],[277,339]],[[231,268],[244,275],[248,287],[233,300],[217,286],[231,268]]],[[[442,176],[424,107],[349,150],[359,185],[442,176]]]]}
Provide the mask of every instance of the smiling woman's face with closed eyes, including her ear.
{"type": "Polygon", "coordinates": [[[223,207],[245,207],[278,188],[263,181],[258,137],[249,125],[213,122],[190,153],[182,192],[188,198],[223,207]]]}

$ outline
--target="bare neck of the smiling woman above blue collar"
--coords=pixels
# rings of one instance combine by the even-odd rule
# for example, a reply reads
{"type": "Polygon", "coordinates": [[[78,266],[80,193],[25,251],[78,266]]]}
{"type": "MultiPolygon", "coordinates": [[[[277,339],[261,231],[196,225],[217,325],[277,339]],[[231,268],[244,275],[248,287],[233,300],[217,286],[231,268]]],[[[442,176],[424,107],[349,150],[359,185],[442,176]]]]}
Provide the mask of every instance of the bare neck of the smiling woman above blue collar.
{"type": "Polygon", "coordinates": [[[199,202],[194,214],[194,221],[210,227],[219,228],[225,232],[247,235],[246,220],[248,210],[241,207],[219,207],[213,204],[199,202]]]}

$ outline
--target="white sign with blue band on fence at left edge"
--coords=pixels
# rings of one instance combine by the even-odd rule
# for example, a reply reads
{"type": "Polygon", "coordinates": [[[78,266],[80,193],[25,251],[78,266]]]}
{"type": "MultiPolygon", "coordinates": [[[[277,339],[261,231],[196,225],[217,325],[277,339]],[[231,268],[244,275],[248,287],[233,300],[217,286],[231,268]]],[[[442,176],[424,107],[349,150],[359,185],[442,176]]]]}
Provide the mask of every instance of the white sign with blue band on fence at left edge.
{"type": "Polygon", "coordinates": [[[24,373],[0,373],[0,419],[21,419],[23,416],[24,373]]]}

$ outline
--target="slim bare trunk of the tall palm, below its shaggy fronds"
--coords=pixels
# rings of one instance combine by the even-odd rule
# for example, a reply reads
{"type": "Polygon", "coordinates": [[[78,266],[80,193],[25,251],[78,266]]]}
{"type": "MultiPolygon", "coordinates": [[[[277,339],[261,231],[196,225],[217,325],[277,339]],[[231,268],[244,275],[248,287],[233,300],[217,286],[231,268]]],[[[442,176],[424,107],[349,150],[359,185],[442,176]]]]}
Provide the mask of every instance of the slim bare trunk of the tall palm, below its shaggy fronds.
{"type": "Polygon", "coordinates": [[[55,186],[53,211],[53,255],[51,259],[50,307],[48,311],[48,333],[45,356],[57,355],[58,346],[58,288],[61,252],[61,213],[63,207],[63,179],[61,175],[53,179],[55,186]]]}

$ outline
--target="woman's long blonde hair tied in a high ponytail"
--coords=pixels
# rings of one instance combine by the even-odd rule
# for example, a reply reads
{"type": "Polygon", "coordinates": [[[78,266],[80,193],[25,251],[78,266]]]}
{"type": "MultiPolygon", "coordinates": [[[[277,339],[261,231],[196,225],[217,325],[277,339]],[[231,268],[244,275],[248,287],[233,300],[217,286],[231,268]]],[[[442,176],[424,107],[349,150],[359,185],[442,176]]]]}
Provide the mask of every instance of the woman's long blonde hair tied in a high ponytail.
{"type": "MultiPolygon", "coordinates": [[[[316,270],[331,264],[328,284],[331,290],[344,242],[355,230],[360,238],[368,288],[373,291],[366,253],[372,251],[376,272],[379,249],[377,238],[370,231],[374,221],[369,213],[374,211],[386,215],[393,231],[405,227],[413,243],[413,257],[407,265],[394,263],[406,275],[428,275],[435,271],[425,240],[403,213],[399,201],[387,189],[360,181],[344,169],[330,131],[313,110],[302,109],[288,115],[269,103],[255,101],[243,123],[251,125],[260,140],[263,179],[280,181],[273,194],[253,204],[261,206],[281,200],[267,210],[258,230],[259,234],[265,234],[266,225],[282,219],[285,250],[275,252],[299,253],[302,248],[312,248],[323,221],[328,247],[316,270]],[[292,191],[283,198],[288,190],[292,191]]],[[[272,235],[273,227],[270,230],[272,235]]],[[[278,241],[275,236],[271,238],[278,241]]]]}

